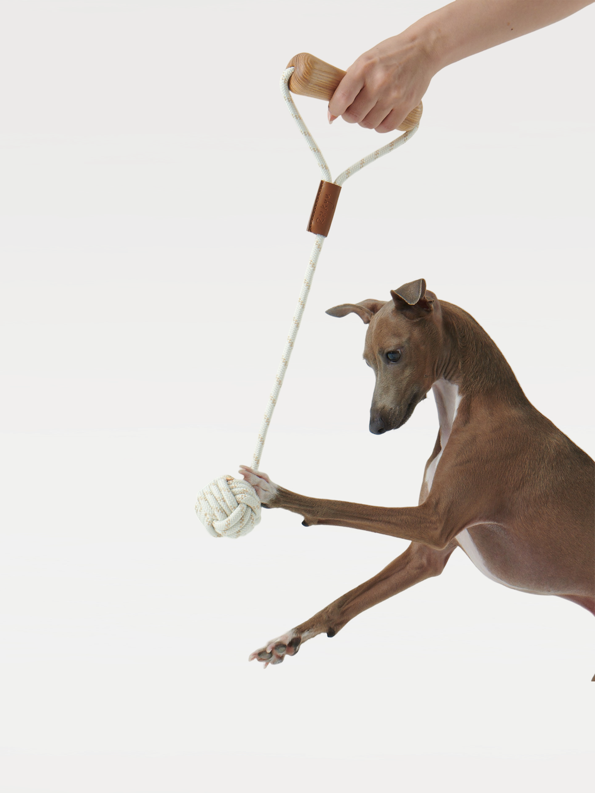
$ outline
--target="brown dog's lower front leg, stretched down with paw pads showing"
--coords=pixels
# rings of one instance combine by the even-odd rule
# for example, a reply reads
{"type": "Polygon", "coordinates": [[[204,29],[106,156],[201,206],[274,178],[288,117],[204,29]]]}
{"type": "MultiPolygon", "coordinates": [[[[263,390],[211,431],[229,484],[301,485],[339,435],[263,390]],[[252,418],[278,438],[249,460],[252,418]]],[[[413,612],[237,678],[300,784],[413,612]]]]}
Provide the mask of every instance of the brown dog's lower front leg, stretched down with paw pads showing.
{"type": "Polygon", "coordinates": [[[327,634],[329,638],[335,636],[362,611],[426,578],[439,576],[455,547],[456,543],[451,542],[447,548],[439,551],[412,542],[401,556],[391,561],[377,576],[351,589],[351,592],[330,603],[305,623],[256,649],[248,661],[260,661],[265,668],[269,664],[280,664],[285,657],[295,655],[304,642],[318,634],[327,634]]]}

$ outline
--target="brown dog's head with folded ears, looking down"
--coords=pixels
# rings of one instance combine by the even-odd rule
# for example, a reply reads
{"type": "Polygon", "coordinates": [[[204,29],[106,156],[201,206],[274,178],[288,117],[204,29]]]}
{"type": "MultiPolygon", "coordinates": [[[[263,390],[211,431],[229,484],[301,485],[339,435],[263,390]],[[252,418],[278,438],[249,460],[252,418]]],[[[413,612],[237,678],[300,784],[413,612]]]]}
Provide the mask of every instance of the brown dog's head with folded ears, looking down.
{"type": "Polygon", "coordinates": [[[367,324],[363,358],[374,370],[370,432],[402,427],[436,381],[442,332],[440,303],[425,281],[391,290],[390,301],[364,300],[329,308],[331,316],[357,314],[367,324]]]}

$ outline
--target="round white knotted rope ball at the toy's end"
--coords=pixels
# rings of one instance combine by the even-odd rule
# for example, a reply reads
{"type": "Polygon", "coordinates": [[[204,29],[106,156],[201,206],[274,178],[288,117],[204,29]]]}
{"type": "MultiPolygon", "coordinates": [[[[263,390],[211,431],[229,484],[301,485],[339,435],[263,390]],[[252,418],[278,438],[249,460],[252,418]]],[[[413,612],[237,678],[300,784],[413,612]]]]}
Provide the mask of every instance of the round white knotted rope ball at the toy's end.
{"type": "Polygon", "coordinates": [[[243,537],[260,521],[260,499],[244,479],[218,477],[198,493],[196,514],[213,537],[243,537]]]}

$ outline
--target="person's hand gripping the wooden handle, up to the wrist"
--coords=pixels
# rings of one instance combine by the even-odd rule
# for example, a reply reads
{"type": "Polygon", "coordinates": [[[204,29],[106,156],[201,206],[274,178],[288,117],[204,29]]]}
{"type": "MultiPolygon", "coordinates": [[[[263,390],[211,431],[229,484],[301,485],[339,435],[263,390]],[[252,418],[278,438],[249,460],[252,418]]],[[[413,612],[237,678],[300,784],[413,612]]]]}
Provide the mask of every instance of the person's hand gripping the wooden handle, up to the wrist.
{"type": "Polygon", "coordinates": [[[381,41],[347,69],[328,104],[328,121],[392,132],[417,107],[438,71],[430,50],[410,30],[381,41]]]}

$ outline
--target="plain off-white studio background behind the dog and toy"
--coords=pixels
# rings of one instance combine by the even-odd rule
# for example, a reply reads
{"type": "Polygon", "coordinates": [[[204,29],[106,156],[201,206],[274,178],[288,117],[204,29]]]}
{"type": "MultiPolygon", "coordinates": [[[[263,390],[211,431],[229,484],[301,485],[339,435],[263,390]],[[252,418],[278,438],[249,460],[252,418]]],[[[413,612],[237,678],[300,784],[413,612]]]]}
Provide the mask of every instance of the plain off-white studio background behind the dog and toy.
{"type": "MultiPolygon", "coordinates": [[[[194,499],[250,462],[319,172],[278,91],[432,2],[3,2],[2,793],[586,791],[593,617],[458,551],[443,575],[263,673],[248,653],[406,543],[194,499]]],[[[363,325],[424,277],[593,454],[593,23],[432,81],[420,131],[344,187],[263,470],[416,504],[428,399],[367,431],[363,325]]],[[[390,138],[298,98],[333,175],[390,138]]]]}

